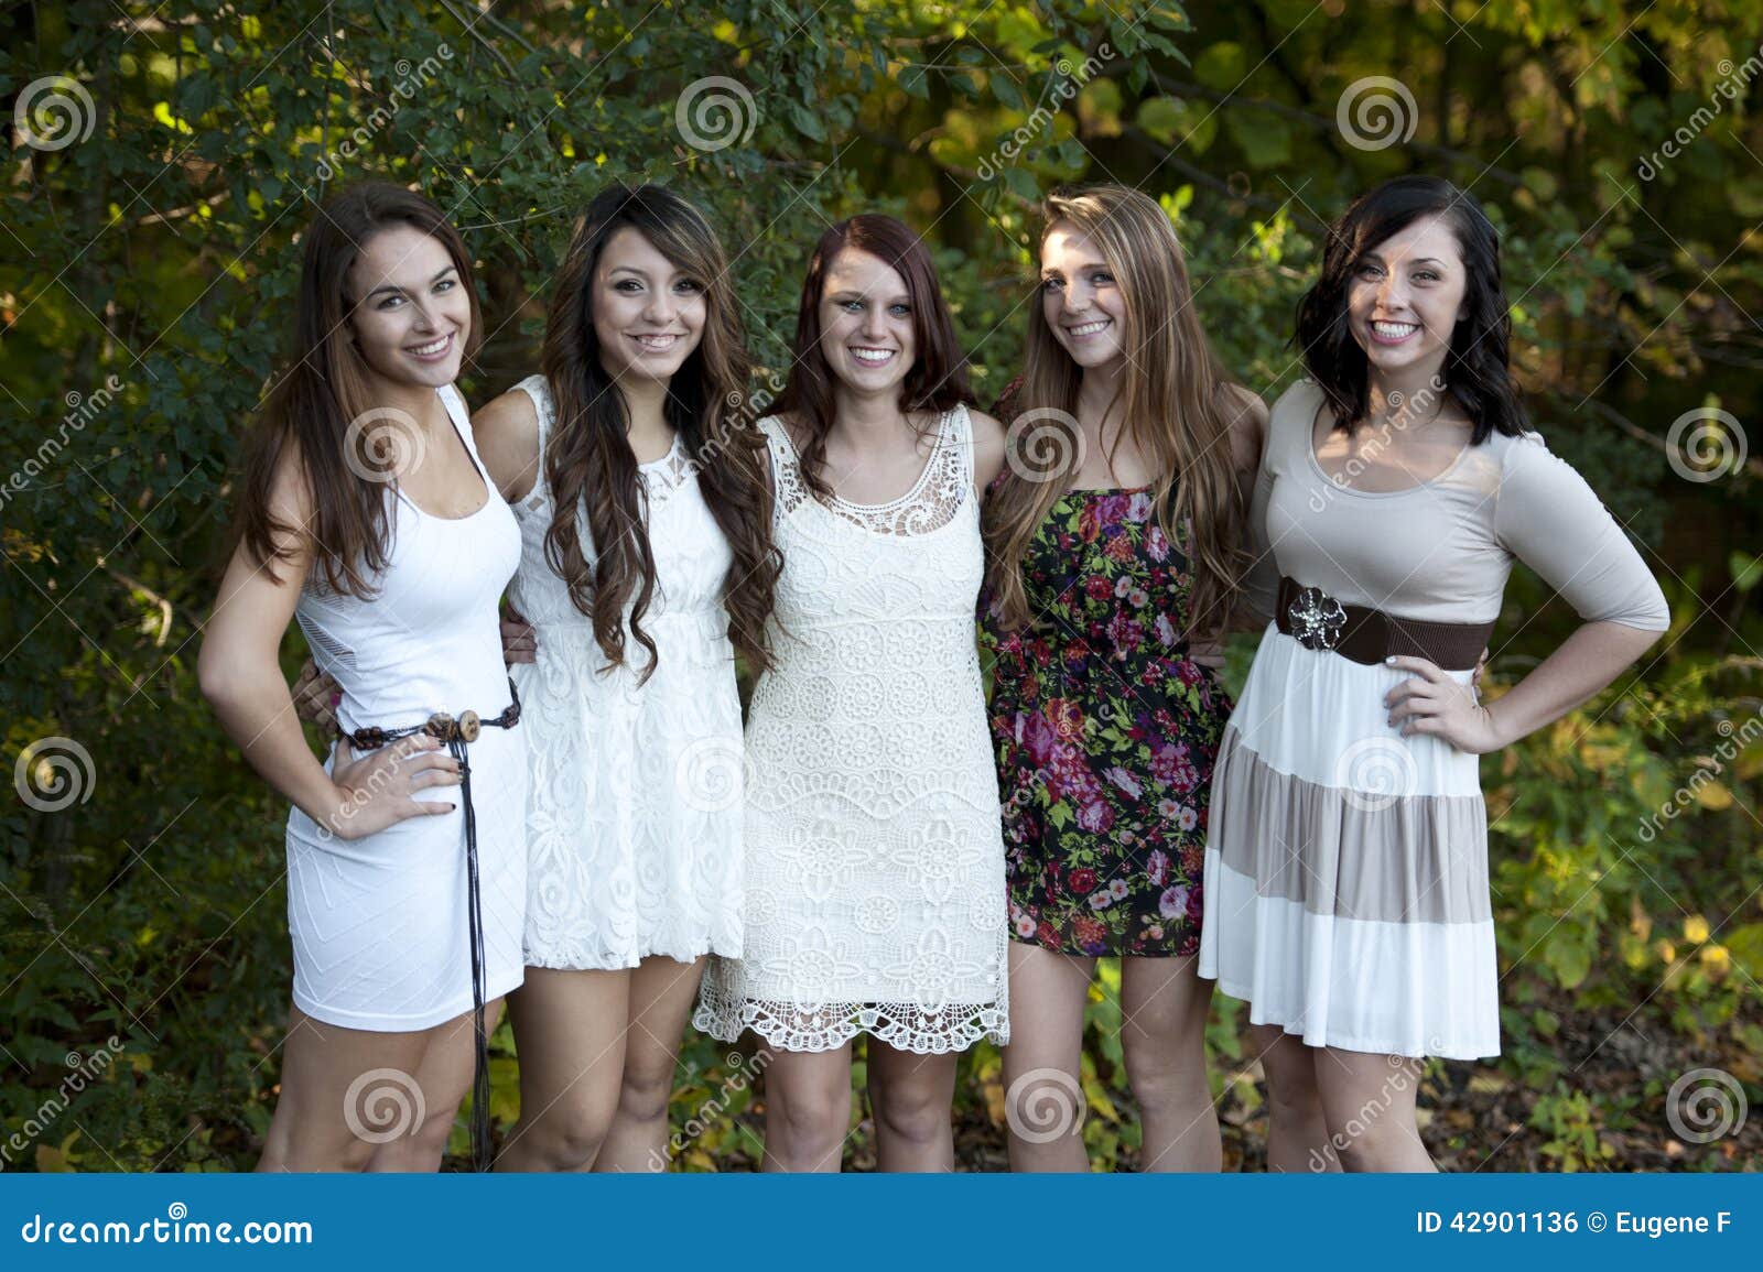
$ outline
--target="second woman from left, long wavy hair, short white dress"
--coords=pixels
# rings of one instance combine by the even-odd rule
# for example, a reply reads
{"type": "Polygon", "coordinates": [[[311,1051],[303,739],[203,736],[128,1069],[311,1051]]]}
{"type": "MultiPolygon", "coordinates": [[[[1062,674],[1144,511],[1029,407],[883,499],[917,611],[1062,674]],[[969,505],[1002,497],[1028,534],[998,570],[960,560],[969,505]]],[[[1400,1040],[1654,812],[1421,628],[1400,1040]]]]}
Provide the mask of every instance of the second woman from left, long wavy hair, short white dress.
{"type": "Polygon", "coordinates": [[[478,412],[520,520],[510,599],[527,800],[520,1122],[502,1170],[666,1166],[705,955],[742,941],[735,654],[767,666],[777,562],[728,263],[659,187],[587,208],[543,375],[478,412]]]}

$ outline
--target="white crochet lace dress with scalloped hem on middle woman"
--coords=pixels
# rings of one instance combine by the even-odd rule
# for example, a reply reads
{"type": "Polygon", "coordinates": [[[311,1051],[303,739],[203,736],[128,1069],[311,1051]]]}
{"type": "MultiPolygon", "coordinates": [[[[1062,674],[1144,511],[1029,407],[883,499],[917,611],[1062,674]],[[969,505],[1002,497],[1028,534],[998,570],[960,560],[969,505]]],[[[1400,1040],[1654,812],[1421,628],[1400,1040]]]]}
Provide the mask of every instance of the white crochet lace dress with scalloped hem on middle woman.
{"type": "Polygon", "coordinates": [[[693,1024],[820,1052],[1008,1041],[998,770],[973,638],[978,499],[964,409],[910,493],[811,497],[777,419],[772,650],[748,714],[746,950],[693,1024]]]}

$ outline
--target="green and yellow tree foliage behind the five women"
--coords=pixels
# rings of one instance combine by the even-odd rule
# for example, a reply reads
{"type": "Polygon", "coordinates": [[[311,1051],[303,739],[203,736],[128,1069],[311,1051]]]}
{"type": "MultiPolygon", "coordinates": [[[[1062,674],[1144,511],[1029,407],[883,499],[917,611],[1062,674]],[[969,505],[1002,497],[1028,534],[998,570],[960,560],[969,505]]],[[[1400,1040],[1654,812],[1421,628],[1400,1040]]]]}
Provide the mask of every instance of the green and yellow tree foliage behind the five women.
{"type": "MultiPolygon", "coordinates": [[[[714,213],[756,393],[786,366],[807,248],[857,210],[896,211],[931,241],[984,395],[1012,373],[1035,303],[1038,194],[1070,180],[1146,189],[1178,222],[1227,365],[1271,398],[1299,372],[1294,303],[1345,201],[1416,169],[1472,189],[1504,233],[1537,426],[1647,546],[1677,613],[1638,675],[1484,766],[1511,1041],[1490,1080],[1534,1094],[1518,1143],[1557,1166],[1611,1165],[1624,1128],[1668,1138],[1664,1089],[1689,1055],[1759,1103],[1759,465],[1698,460],[1694,430],[1673,426],[1724,409],[1737,433],[1703,447],[1735,460],[1758,418],[1763,4],[1629,9],[12,7],[0,708],[18,798],[0,809],[0,1136],[21,1143],[0,1143],[4,1165],[254,1161],[287,992],[284,810],[199,701],[194,654],[240,435],[286,351],[301,226],[367,176],[420,185],[478,254],[476,402],[536,366],[569,220],[614,178],[668,181],[714,213]],[[1611,1036],[1645,1020],[1670,1039],[1631,1064],[1627,1103],[1576,1068],[1622,1050],[1574,1029],[1615,1008],[1636,1015],[1617,1011],[1611,1036]]],[[[1493,687],[1569,625],[1514,580],[1493,687]]],[[[296,636],[286,657],[303,657],[296,636]]],[[[1112,974],[1086,1048],[1100,1165],[1135,1149],[1112,974]]],[[[1211,1031],[1216,1082],[1232,1145],[1253,1156],[1241,1128],[1257,1126],[1259,1098],[1234,1018],[1222,1004],[1211,1031]]],[[[506,1032],[499,1048],[506,1122],[506,1032]]],[[[751,1157],[751,1091],[726,1091],[740,1064],[691,1043],[679,1124],[726,1099],[686,1136],[684,1165],[751,1157]]],[[[1442,1066],[1433,1080],[1440,1099],[1462,1085],[1442,1066]]],[[[980,1048],[961,1106],[991,1135],[984,1152],[996,1083],[980,1048]]],[[[1479,1122],[1433,1133],[1465,1161],[1511,1138],[1479,1122]]],[[[1733,1143],[1670,1161],[1721,1165],[1733,1143]]]]}

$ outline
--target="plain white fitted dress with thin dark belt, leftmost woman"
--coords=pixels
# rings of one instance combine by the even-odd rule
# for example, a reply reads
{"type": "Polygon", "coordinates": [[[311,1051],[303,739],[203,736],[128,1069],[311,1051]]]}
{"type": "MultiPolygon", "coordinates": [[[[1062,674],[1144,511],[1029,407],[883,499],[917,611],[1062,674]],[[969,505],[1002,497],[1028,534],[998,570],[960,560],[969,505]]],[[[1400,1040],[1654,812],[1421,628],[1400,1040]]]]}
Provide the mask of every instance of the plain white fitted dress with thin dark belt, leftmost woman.
{"type": "MultiPolygon", "coordinates": [[[[397,484],[391,553],[377,595],[330,592],[314,573],[294,608],[319,669],[337,680],[346,731],[421,724],[435,712],[494,719],[510,703],[497,603],[520,560],[520,532],[483,474],[458,393],[439,389],[483,477],[483,507],[430,516],[397,484]]],[[[524,976],[527,899],[525,726],[485,728],[469,745],[483,890],[485,987],[492,1001],[524,976]]],[[[335,749],[324,761],[330,772],[335,749]]],[[[458,786],[418,800],[464,805],[458,786]]],[[[409,817],[344,840],[300,809],[287,816],[287,928],[294,1006],[346,1029],[407,1032],[472,1009],[465,810],[409,817]]]]}

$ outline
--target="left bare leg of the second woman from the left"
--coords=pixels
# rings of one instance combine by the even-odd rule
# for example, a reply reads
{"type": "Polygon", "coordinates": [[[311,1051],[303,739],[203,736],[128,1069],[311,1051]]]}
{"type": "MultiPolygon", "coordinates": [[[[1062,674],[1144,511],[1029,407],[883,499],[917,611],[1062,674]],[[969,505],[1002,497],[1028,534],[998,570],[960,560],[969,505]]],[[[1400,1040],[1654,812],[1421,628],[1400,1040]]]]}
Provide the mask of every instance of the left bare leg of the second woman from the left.
{"type": "Polygon", "coordinates": [[[527,967],[508,999],[520,1122],[497,1170],[592,1170],[619,1106],[629,995],[629,971],[527,967]]]}

